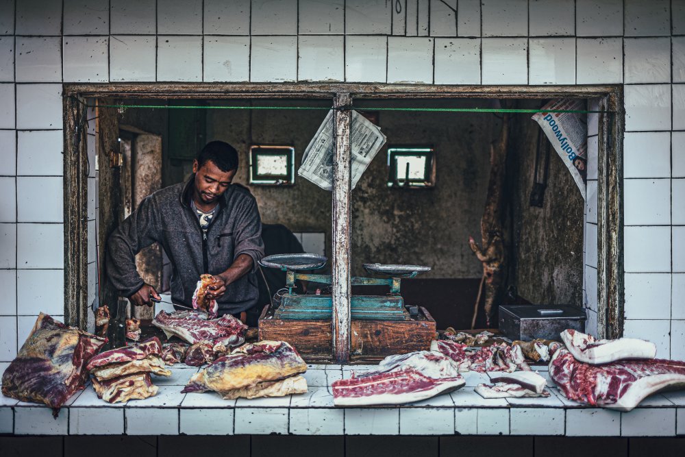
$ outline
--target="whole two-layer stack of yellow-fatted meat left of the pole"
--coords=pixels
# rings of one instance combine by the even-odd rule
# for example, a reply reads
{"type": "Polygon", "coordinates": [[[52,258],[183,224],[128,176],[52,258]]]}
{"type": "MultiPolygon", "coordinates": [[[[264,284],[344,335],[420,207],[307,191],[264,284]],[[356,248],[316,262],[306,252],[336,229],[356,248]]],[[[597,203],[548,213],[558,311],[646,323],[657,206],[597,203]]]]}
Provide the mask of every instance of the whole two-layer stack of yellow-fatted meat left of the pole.
{"type": "Polygon", "coordinates": [[[218,392],[224,399],[282,397],[306,393],[307,381],[299,376],[307,364],[284,341],[242,345],[195,373],[184,393],[218,392]]]}

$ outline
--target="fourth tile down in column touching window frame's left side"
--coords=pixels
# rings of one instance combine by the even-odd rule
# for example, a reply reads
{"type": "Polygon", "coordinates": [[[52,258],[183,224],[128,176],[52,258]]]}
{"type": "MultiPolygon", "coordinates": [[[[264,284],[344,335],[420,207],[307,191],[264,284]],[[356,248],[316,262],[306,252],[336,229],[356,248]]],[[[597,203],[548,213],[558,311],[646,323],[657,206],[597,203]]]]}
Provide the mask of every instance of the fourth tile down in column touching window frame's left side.
{"type": "Polygon", "coordinates": [[[21,224],[16,258],[18,268],[64,268],[64,225],[21,224]]]}

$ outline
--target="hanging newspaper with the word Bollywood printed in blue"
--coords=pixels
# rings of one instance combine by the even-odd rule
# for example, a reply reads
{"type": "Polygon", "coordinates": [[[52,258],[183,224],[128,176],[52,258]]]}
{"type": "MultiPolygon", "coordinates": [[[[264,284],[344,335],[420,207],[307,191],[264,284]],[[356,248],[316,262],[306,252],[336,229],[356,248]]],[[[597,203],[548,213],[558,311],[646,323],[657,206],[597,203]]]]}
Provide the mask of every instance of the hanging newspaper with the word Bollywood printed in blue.
{"type": "MultiPolygon", "coordinates": [[[[552,100],[542,110],[585,110],[580,99],[552,100]]],[[[536,112],[532,119],[540,124],[554,150],[571,172],[575,184],[585,199],[588,168],[588,121],[586,113],[536,112]]]]}

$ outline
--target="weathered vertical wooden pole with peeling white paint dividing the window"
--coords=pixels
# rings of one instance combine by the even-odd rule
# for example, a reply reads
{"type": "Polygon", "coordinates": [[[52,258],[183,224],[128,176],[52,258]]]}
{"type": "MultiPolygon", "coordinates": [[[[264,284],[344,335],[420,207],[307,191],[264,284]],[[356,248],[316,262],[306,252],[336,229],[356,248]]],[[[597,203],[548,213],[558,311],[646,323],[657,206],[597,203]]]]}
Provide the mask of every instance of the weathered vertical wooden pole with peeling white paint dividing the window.
{"type": "Polygon", "coordinates": [[[351,106],[351,96],[347,92],[338,93],[334,99],[334,124],[336,146],[333,156],[333,358],[336,363],[349,361],[350,334],[350,276],[349,276],[349,238],[350,238],[350,182],[351,153],[349,129],[351,110],[338,108],[351,106]]]}

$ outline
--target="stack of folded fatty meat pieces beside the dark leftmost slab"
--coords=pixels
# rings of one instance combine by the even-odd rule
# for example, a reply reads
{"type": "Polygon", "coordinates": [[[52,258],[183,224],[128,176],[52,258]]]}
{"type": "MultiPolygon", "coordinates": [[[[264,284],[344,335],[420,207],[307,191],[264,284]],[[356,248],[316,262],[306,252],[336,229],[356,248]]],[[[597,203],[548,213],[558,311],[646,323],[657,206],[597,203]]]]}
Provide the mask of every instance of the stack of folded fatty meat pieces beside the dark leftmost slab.
{"type": "Polygon", "coordinates": [[[171,376],[164,368],[162,343],[150,338],[139,345],[104,351],[90,359],[86,367],[93,375],[95,393],[105,402],[127,402],[155,395],[150,373],[171,376]]]}

